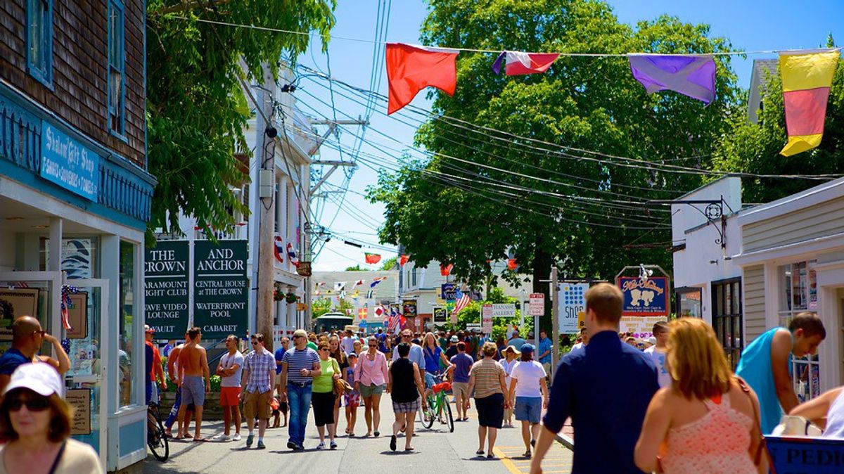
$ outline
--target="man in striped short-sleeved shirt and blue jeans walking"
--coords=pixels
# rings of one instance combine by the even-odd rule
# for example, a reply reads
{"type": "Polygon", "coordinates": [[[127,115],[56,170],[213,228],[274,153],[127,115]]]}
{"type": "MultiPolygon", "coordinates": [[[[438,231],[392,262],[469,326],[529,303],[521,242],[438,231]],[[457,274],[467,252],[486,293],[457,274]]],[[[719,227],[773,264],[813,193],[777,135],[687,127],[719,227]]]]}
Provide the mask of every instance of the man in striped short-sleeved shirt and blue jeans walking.
{"type": "Polygon", "coordinates": [[[289,441],[291,450],[304,450],[305,426],[311,407],[311,385],[314,377],[322,374],[317,351],[308,347],[306,331],[297,329],[293,333],[294,347],[284,353],[281,359],[281,401],[287,401],[290,410],[289,441]]]}

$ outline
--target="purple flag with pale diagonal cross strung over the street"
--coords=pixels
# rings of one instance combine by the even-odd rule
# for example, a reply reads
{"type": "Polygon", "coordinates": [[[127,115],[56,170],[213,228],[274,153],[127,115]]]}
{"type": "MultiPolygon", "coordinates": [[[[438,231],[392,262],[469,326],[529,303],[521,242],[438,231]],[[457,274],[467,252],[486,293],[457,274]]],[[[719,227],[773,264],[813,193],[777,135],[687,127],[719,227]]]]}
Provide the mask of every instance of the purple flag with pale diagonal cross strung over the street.
{"type": "Polygon", "coordinates": [[[715,100],[715,60],[711,56],[630,54],[633,77],[648,94],[674,90],[709,105],[715,100]]]}

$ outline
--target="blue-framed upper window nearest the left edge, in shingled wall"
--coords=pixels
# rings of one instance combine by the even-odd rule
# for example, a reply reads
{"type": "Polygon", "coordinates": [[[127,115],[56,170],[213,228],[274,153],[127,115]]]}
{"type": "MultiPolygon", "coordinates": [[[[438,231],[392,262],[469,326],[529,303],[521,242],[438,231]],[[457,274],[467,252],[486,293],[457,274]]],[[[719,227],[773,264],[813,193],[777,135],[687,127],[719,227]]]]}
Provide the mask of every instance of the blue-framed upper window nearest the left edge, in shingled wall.
{"type": "Polygon", "coordinates": [[[52,87],[52,0],[26,3],[26,68],[38,82],[52,87]]]}

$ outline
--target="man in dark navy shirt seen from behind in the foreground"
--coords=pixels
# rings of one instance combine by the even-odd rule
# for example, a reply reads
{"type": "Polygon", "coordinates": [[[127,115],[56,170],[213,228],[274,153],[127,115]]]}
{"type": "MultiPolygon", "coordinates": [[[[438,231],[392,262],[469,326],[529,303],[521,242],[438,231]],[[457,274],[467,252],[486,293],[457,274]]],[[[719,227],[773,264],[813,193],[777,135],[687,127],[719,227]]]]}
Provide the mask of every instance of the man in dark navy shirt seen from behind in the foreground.
{"type": "Polygon", "coordinates": [[[645,354],[619,340],[623,300],[618,287],[598,283],[585,299],[592,338],[557,368],[531,471],[541,471],[555,434],[571,417],[577,435],[572,474],[640,474],[633,449],[659,390],[657,370],[645,354]]]}

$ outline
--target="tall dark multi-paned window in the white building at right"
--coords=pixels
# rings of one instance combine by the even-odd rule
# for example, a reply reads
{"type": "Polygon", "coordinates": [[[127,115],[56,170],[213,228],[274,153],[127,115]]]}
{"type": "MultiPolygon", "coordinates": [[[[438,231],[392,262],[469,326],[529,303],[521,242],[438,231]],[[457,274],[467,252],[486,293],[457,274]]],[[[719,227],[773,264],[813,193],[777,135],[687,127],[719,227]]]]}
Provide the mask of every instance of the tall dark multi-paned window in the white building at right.
{"type": "Polygon", "coordinates": [[[712,326],[730,366],[735,370],[744,350],[741,278],[712,282],[712,326]]]}

